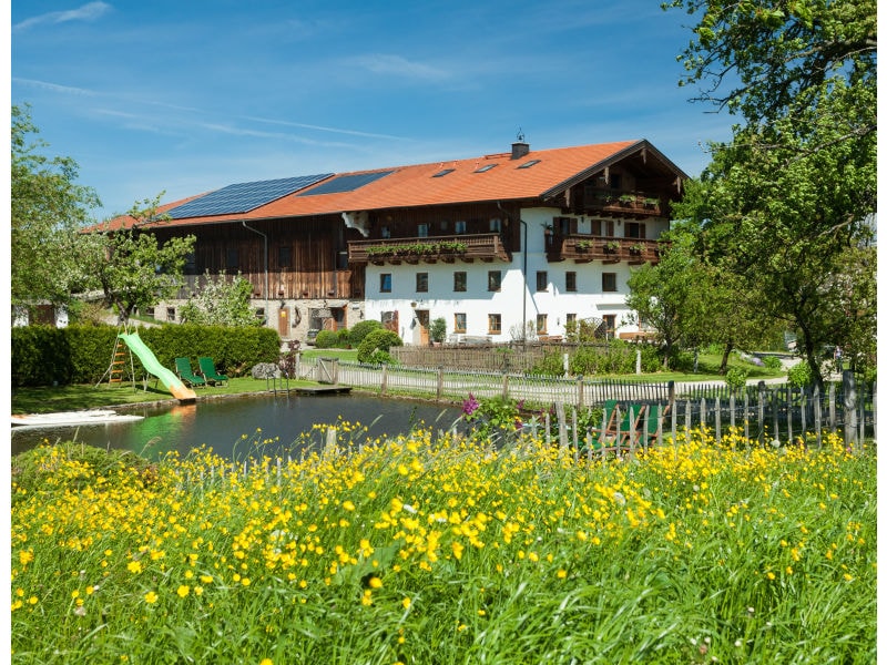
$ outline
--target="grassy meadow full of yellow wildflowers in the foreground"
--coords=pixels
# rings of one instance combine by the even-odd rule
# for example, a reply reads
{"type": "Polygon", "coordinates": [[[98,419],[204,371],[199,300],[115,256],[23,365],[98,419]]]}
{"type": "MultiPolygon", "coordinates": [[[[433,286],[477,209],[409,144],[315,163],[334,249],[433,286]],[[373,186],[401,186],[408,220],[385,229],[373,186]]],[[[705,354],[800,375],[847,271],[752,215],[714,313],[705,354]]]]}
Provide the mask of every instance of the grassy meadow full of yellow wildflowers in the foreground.
{"type": "Polygon", "coordinates": [[[12,662],[876,658],[874,450],[359,429],[293,461],[13,459],[12,662]]]}

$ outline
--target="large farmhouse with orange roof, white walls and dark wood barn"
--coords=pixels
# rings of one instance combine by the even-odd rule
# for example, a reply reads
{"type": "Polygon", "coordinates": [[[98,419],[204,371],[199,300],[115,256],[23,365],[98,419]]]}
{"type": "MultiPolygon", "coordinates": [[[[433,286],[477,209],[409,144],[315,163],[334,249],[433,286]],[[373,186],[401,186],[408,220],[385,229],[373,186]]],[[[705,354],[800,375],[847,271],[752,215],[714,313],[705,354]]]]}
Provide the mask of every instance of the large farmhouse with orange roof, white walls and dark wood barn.
{"type": "Polygon", "coordinates": [[[657,260],[686,177],[645,140],[519,139],[479,157],[230,185],[140,226],[196,237],[185,286],[153,315],[177,320],[205,273],[224,270],[252,283],[256,315],[285,340],[367,318],[416,345],[436,318],[448,341],[510,341],[527,323],[557,338],[583,319],[629,337],[626,280],[657,260]]]}

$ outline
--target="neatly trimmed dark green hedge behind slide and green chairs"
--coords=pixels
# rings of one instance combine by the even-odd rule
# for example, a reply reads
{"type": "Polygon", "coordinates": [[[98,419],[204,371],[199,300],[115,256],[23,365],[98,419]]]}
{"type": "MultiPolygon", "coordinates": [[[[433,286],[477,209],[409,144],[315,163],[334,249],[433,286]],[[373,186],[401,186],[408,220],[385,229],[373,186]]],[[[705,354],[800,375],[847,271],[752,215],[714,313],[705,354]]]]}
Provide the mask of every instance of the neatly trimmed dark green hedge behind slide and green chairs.
{"type": "MultiPolygon", "coordinates": [[[[242,376],[256,362],[276,362],[281,337],[271,328],[226,328],[222,326],[140,327],[139,335],[157,360],[175,369],[175,358],[210,356],[216,368],[228,376],[242,376]]],[[[114,326],[27,326],[12,328],[12,387],[94,383],[108,371],[119,329],[114,326]]],[[[128,347],[121,344],[121,349],[128,347]]],[[[125,379],[131,379],[129,355],[125,379]]],[[[135,379],[145,376],[133,357],[135,379]]]]}

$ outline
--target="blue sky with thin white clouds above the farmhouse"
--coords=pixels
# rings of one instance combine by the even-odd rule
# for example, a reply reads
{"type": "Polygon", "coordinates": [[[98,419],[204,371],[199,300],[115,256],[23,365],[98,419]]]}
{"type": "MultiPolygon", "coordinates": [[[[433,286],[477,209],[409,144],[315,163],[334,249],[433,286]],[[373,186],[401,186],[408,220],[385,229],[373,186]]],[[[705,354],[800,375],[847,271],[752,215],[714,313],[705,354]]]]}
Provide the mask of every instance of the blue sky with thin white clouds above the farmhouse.
{"type": "Polygon", "coordinates": [[[14,0],[11,102],[96,219],[165,192],[648,139],[691,176],[735,119],[689,100],[659,0],[14,0]]]}

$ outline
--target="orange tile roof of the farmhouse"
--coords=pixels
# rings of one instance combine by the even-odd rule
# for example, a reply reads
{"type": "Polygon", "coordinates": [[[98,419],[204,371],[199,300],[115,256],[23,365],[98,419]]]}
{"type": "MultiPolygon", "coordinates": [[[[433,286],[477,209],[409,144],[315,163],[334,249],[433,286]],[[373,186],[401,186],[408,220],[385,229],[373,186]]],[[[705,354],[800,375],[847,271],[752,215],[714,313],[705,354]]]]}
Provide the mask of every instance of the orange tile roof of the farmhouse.
{"type": "MultiPolygon", "coordinates": [[[[318,183],[247,213],[182,218],[165,222],[163,225],[181,226],[395,207],[532,200],[552,191],[557,192],[559,186],[565,186],[579,176],[591,175],[592,171],[601,170],[626,153],[642,149],[649,149],[656,153],[676,176],[686,177],[646,141],[621,141],[575,147],[531,150],[517,160],[512,160],[509,152],[468,160],[339,173],[325,182],[328,183],[345,175],[392,172],[350,192],[309,195],[313,188],[324,184],[318,183]],[[532,160],[539,162],[529,168],[519,168],[521,164],[532,160]],[[496,166],[483,173],[477,173],[478,168],[489,164],[496,164],[496,166]],[[452,168],[452,172],[441,177],[432,177],[445,168],[452,168]]],[[[172,209],[193,198],[164,205],[161,212],[172,209]]]]}

